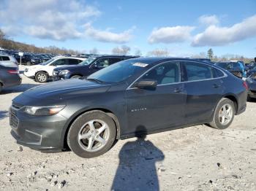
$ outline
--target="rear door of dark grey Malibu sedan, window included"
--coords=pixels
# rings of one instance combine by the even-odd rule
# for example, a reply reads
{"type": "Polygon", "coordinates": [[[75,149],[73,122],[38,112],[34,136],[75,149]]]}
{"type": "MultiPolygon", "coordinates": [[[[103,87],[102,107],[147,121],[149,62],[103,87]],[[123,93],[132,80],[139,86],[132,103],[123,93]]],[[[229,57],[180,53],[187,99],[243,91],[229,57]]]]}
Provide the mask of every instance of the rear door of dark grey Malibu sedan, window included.
{"type": "Polygon", "coordinates": [[[187,91],[187,102],[185,110],[186,122],[206,122],[211,120],[224,87],[222,85],[222,71],[212,66],[195,61],[184,61],[182,69],[184,69],[186,83],[184,88],[187,91]]]}

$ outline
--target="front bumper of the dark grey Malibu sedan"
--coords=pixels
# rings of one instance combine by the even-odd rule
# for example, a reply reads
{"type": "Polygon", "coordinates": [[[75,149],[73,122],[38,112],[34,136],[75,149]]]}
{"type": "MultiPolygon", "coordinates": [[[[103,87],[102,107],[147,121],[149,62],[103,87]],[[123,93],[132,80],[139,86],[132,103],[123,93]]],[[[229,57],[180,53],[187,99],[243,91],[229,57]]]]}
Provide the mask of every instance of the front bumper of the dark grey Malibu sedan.
{"type": "Polygon", "coordinates": [[[18,144],[41,151],[64,149],[61,137],[67,118],[31,116],[21,109],[10,108],[11,134],[18,144]]]}

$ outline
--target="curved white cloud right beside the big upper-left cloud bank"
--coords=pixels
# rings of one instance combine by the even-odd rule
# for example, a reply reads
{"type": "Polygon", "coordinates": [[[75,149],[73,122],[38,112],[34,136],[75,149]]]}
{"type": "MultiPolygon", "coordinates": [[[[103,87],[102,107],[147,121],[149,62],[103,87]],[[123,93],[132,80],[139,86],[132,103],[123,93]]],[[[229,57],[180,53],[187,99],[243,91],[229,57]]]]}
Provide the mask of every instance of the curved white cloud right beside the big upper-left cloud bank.
{"type": "Polygon", "coordinates": [[[99,42],[113,42],[113,43],[126,43],[132,39],[132,31],[135,30],[135,27],[130,28],[127,31],[121,33],[113,33],[108,28],[105,31],[95,29],[91,24],[86,25],[86,36],[90,36],[92,39],[95,39],[99,42]]]}

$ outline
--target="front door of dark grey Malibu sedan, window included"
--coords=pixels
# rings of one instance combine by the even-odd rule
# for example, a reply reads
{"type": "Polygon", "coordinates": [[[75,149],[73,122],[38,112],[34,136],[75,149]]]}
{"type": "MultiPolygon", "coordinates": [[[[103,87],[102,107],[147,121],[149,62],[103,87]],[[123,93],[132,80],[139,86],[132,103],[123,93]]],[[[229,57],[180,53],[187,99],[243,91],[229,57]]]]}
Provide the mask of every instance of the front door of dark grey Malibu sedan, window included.
{"type": "Polygon", "coordinates": [[[138,81],[143,79],[156,80],[157,88],[155,90],[143,90],[137,87],[127,89],[129,129],[124,133],[135,132],[135,129],[140,126],[152,132],[184,123],[186,92],[184,83],[180,82],[179,63],[162,63],[148,71],[138,81]]]}

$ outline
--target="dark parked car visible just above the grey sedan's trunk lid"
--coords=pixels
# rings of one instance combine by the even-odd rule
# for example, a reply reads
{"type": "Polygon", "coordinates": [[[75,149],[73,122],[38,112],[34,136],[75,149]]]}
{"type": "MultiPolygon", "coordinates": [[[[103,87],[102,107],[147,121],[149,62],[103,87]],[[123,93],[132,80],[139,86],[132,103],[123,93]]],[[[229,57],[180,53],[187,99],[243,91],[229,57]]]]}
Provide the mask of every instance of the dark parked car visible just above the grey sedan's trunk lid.
{"type": "Polygon", "coordinates": [[[230,71],[230,73],[236,77],[243,78],[244,75],[246,77],[246,73],[244,73],[243,69],[241,69],[241,66],[238,62],[219,62],[215,63],[215,65],[230,71]]]}

